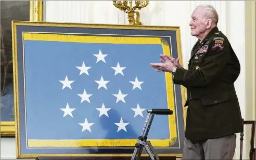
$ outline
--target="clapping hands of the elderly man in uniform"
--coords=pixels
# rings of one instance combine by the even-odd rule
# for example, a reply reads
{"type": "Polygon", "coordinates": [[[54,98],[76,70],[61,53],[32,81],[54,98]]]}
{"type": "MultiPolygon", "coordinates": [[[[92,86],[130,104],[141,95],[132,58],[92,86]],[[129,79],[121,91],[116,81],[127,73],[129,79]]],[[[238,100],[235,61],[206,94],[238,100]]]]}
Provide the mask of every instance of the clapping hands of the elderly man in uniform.
{"type": "Polygon", "coordinates": [[[174,63],[172,60],[168,59],[167,57],[164,57],[164,62],[163,63],[150,63],[152,68],[156,69],[156,71],[163,71],[163,72],[170,72],[172,73],[174,68],[174,63]]]}

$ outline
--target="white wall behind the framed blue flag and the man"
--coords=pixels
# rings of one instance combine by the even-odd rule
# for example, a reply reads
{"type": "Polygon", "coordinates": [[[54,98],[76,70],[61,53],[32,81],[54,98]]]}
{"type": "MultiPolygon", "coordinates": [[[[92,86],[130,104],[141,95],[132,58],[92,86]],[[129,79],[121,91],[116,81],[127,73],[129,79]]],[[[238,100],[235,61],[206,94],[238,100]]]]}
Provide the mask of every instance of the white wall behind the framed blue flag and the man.
{"type": "MultiPolygon", "coordinates": [[[[190,35],[188,26],[190,15],[198,4],[207,3],[213,5],[219,13],[220,21],[218,27],[229,38],[240,60],[241,74],[235,83],[235,87],[241,105],[242,117],[246,120],[255,119],[255,114],[252,114],[255,112],[255,109],[253,110],[255,108],[255,100],[253,99],[255,97],[255,16],[254,20],[253,16],[250,18],[246,17],[252,11],[255,13],[255,5],[253,8],[250,4],[255,2],[150,1],[146,8],[140,10],[140,21],[145,25],[180,26],[183,62],[184,67],[187,68],[190,50],[197,40],[190,35]],[[247,9],[246,11],[245,8],[247,9]],[[254,40],[250,41],[249,38],[253,39],[253,24],[254,40]],[[250,30],[248,30],[248,27],[250,30]]],[[[111,1],[46,1],[44,6],[43,17],[44,21],[48,22],[129,24],[126,14],[115,8],[111,1]]],[[[248,159],[248,154],[245,154],[248,152],[248,136],[244,138],[244,146],[247,147],[244,149],[243,157],[248,159]]],[[[3,141],[1,143],[2,158],[15,159],[15,139],[1,138],[1,140],[3,141]]],[[[234,159],[239,159],[239,146],[239,138],[237,138],[237,149],[234,159]]]]}

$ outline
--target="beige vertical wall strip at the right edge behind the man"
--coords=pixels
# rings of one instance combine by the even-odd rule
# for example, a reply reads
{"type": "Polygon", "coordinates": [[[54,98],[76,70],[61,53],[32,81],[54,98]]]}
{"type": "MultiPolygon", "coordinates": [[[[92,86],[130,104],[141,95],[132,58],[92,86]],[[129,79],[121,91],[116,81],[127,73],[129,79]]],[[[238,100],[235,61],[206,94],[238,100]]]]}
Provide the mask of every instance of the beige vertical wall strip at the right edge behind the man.
{"type": "MultiPolygon", "coordinates": [[[[246,89],[246,118],[245,120],[255,120],[255,73],[256,73],[256,29],[255,29],[255,23],[256,23],[256,2],[247,2],[245,4],[245,23],[247,24],[245,26],[245,89],[246,89]]],[[[245,132],[251,132],[251,126],[245,127],[245,132]]],[[[255,135],[254,135],[255,136],[255,135]]],[[[256,139],[256,138],[255,138],[256,139]]],[[[246,140],[246,143],[250,143],[250,139],[246,140]]],[[[254,147],[256,145],[256,141],[254,144],[254,147]]],[[[249,145],[247,145],[249,148],[249,145]]]]}

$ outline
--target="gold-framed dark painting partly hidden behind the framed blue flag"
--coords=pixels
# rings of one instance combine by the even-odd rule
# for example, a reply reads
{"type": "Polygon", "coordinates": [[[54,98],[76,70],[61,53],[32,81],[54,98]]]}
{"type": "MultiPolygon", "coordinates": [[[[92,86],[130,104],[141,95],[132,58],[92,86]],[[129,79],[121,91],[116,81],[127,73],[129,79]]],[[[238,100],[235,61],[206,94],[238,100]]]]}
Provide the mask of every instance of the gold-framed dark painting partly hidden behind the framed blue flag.
{"type": "Polygon", "coordinates": [[[1,1],[1,137],[15,136],[12,20],[42,21],[42,1],[1,1]]]}

